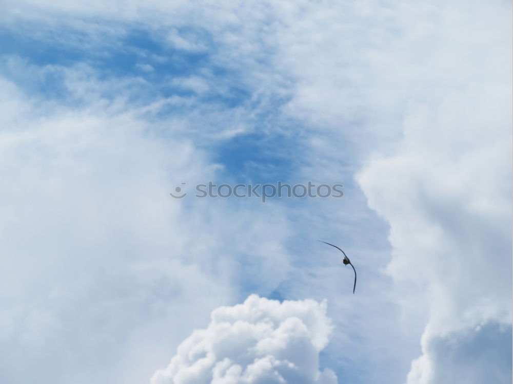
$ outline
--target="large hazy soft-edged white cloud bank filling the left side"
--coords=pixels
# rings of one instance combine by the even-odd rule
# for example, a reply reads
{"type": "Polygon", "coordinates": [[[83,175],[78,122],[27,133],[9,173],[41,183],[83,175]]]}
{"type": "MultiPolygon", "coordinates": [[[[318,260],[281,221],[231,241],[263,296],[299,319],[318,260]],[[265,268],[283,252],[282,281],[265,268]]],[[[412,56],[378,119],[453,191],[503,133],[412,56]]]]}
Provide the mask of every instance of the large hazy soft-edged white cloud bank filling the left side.
{"type": "Polygon", "coordinates": [[[142,382],[232,300],[245,258],[261,289],[279,284],[288,223],[260,203],[172,200],[174,186],[211,180],[216,166],[173,121],[155,133],[141,117],[153,99],[126,101],[139,80],[52,71],[78,105],[1,80],[0,381],[142,382]]]}

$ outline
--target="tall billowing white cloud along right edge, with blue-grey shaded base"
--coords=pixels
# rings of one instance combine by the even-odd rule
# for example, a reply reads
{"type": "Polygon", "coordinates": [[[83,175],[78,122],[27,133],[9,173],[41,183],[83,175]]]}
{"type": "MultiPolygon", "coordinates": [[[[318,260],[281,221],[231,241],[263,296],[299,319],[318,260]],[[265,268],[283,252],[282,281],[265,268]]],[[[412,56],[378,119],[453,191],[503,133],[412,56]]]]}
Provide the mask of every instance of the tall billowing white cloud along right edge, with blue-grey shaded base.
{"type": "MultiPolygon", "coordinates": [[[[437,82],[443,94],[410,101],[394,151],[375,154],[358,176],[369,206],[390,225],[386,273],[402,311],[427,308],[408,384],[482,382],[490,372],[500,372],[494,382],[511,381],[510,361],[496,358],[511,348],[511,90],[504,82],[511,61],[507,23],[489,18],[497,10],[480,16],[489,25],[479,35],[481,57],[462,69],[475,81],[461,87],[461,74],[447,76],[437,82]],[[481,349],[479,358],[467,345],[481,349]]],[[[474,17],[462,13],[458,23],[468,29],[474,17]]]]}

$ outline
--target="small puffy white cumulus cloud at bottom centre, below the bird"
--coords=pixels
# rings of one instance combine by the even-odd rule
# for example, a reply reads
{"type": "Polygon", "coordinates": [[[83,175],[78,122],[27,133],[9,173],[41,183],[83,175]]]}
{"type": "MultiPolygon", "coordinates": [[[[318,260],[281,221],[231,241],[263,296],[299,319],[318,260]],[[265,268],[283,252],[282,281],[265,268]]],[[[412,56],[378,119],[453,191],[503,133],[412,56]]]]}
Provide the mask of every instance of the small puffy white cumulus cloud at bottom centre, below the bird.
{"type": "Polygon", "coordinates": [[[152,384],[335,384],[319,370],[319,352],[332,326],[326,301],[284,301],[250,295],[243,304],[220,307],[206,329],[178,347],[152,384]]]}

